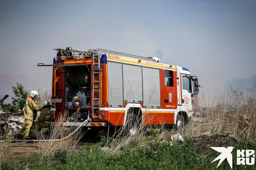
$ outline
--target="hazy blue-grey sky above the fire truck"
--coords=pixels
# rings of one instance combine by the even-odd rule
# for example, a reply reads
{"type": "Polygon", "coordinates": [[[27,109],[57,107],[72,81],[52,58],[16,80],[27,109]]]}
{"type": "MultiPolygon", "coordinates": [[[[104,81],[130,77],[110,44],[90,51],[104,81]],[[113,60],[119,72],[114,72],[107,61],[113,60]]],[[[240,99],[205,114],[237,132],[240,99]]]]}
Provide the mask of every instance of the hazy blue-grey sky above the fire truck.
{"type": "MultiPolygon", "coordinates": [[[[202,91],[256,74],[256,1],[3,1],[0,95],[51,90],[53,48],[102,48],[186,67],[202,91]]],[[[256,83],[256,82],[255,82],[256,83]]],[[[253,84],[252,84],[253,87],[253,84]]]]}

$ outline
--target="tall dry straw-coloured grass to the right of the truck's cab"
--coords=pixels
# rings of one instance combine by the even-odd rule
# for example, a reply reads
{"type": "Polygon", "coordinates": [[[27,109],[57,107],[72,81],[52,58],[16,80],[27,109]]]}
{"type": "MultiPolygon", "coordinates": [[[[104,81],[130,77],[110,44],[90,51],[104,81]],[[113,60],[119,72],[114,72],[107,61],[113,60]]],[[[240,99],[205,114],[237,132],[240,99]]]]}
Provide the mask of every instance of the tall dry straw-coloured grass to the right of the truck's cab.
{"type": "MultiPolygon", "coordinates": [[[[255,93],[252,94],[255,99],[255,93]]],[[[227,94],[219,94],[213,103],[209,101],[209,93],[202,94],[201,100],[195,109],[195,119],[186,127],[184,136],[197,136],[203,132],[211,132],[213,135],[233,135],[242,140],[246,137],[249,141],[255,141],[256,137],[256,101],[246,99],[241,92],[232,88],[227,94]],[[242,113],[251,117],[251,123],[242,125],[238,120],[238,114],[242,113]]]]}

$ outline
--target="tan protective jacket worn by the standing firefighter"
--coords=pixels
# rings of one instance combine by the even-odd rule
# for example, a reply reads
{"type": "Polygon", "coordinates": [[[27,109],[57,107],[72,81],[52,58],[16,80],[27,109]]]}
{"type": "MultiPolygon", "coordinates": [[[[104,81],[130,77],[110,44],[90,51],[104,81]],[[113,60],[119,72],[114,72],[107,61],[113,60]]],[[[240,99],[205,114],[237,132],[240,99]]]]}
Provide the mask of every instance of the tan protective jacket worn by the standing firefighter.
{"type": "Polygon", "coordinates": [[[40,111],[41,107],[38,107],[37,104],[35,104],[35,99],[32,99],[32,98],[27,99],[26,104],[24,106],[23,118],[25,120],[33,121],[34,110],[40,111]]]}

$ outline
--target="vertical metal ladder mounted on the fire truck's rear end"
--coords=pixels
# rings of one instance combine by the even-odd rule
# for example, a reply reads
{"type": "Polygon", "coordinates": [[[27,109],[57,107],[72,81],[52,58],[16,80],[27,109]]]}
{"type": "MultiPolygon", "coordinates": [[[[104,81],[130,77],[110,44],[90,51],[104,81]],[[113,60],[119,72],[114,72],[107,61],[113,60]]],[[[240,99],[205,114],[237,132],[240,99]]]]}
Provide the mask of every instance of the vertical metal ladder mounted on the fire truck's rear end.
{"type": "Polygon", "coordinates": [[[93,88],[93,96],[92,96],[92,117],[98,117],[99,118],[99,108],[100,108],[100,95],[101,95],[101,91],[100,91],[100,79],[101,79],[101,66],[100,66],[100,53],[98,53],[98,62],[95,62],[95,54],[92,54],[93,56],[93,84],[92,84],[92,88],[93,88]],[[99,74],[99,79],[95,80],[95,75],[99,74]],[[98,83],[98,88],[95,89],[95,85],[96,83],[98,83]],[[98,98],[95,98],[95,94],[98,94],[98,98]],[[98,115],[95,116],[95,113],[98,113],[98,115]]]}

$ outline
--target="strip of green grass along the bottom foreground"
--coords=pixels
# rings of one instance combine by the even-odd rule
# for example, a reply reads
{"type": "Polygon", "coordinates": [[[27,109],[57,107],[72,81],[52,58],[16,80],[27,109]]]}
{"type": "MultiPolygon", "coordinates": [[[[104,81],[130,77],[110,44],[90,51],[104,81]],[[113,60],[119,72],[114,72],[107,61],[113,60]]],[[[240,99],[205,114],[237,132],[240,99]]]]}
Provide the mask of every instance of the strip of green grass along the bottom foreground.
{"type": "MultiPolygon", "coordinates": [[[[183,143],[148,142],[145,147],[125,148],[115,154],[107,154],[99,149],[102,143],[84,147],[83,151],[70,152],[65,149],[55,151],[53,156],[41,160],[33,154],[18,160],[10,160],[1,169],[213,169],[218,160],[211,163],[219,153],[209,147],[233,146],[233,169],[256,169],[255,165],[235,165],[237,149],[255,149],[251,142],[238,143],[218,138],[204,138],[200,141],[187,138],[183,143]],[[216,142],[217,141],[217,142],[216,142]],[[228,144],[227,144],[228,142],[228,144]]],[[[103,139],[103,142],[105,139],[103,139]]],[[[218,169],[231,169],[226,160],[218,169]]]]}

